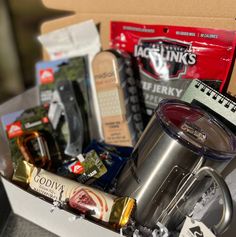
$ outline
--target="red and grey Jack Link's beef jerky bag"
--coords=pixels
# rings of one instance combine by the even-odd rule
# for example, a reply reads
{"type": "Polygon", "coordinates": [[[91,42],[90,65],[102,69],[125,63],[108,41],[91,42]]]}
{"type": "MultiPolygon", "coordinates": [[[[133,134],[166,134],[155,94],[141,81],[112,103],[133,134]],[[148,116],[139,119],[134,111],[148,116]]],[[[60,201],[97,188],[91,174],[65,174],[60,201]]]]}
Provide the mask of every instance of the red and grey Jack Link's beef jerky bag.
{"type": "Polygon", "coordinates": [[[160,100],[181,97],[190,79],[204,80],[222,91],[232,63],[235,32],[112,22],[111,44],[134,56],[149,117],[160,100]]]}

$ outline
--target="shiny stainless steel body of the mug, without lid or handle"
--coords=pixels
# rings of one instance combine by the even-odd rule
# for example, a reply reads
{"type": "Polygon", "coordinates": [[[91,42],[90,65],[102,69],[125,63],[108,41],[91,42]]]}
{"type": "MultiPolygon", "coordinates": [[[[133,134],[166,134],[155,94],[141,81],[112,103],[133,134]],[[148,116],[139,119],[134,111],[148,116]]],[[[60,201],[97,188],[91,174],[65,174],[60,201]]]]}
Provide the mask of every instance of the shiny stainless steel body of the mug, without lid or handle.
{"type": "Polygon", "coordinates": [[[152,226],[154,212],[159,210],[161,214],[181,180],[200,158],[164,133],[155,120],[141,139],[133,153],[136,157],[130,160],[118,180],[117,190],[120,195],[136,199],[136,220],[152,226]]]}

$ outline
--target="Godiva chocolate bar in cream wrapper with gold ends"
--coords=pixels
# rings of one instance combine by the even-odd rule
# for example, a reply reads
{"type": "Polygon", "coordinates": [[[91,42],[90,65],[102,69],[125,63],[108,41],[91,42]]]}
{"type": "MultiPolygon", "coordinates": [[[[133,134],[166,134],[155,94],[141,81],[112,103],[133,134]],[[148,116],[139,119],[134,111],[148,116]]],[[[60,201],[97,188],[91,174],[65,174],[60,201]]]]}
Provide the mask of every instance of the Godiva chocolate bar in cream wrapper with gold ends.
{"type": "Polygon", "coordinates": [[[49,200],[66,203],[72,209],[114,227],[125,226],[132,214],[135,200],[117,197],[95,188],[39,169],[26,161],[18,163],[13,181],[49,200]]]}

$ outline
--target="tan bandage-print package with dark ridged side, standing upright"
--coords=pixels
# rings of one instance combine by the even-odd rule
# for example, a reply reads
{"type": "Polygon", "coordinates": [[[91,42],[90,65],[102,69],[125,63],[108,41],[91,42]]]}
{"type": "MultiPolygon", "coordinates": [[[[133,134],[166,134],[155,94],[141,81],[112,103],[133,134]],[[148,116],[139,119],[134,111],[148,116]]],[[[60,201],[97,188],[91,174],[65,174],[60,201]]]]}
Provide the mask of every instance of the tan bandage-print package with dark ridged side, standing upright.
{"type": "Polygon", "coordinates": [[[118,50],[102,51],[92,62],[104,141],[109,144],[133,146],[143,130],[131,65],[130,56],[118,50]]]}

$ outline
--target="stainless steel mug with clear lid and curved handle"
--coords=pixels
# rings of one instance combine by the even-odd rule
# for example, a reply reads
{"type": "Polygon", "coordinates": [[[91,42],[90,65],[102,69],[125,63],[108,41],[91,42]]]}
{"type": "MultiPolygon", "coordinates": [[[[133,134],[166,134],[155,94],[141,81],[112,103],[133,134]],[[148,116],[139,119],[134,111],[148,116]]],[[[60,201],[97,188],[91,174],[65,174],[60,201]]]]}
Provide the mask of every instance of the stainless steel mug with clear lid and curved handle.
{"type": "Polygon", "coordinates": [[[224,217],[217,226],[223,232],[232,218],[232,199],[218,173],[235,156],[235,136],[220,121],[199,107],[163,100],[119,176],[117,194],[136,199],[139,224],[153,227],[159,221],[176,228],[213,179],[224,193],[224,217]]]}

